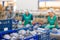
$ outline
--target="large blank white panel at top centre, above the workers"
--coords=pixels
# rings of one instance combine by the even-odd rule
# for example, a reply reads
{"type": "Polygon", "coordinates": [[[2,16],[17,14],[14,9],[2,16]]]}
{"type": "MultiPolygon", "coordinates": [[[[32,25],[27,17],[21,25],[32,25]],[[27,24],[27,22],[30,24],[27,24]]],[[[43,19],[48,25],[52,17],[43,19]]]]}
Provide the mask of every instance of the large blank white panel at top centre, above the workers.
{"type": "Polygon", "coordinates": [[[38,0],[18,0],[16,1],[16,8],[28,9],[28,10],[37,10],[38,9],[38,0]]]}

